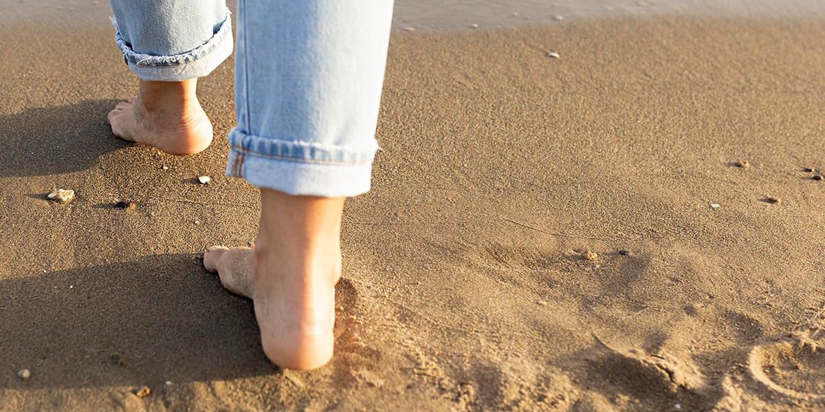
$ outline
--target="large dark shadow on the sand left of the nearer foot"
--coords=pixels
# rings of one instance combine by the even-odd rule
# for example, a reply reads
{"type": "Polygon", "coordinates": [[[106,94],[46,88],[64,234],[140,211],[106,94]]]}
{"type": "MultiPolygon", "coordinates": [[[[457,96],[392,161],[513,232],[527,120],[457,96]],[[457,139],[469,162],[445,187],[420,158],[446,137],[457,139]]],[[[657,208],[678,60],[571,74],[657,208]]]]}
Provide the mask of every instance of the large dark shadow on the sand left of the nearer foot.
{"type": "Polygon", "coordinates": [[[252,301],[199,255],[30,274],[0,282],[0,387],[148,385],[276,372],[252,301]],[[16,370],[29,368],[26,382],[16,370]]]}

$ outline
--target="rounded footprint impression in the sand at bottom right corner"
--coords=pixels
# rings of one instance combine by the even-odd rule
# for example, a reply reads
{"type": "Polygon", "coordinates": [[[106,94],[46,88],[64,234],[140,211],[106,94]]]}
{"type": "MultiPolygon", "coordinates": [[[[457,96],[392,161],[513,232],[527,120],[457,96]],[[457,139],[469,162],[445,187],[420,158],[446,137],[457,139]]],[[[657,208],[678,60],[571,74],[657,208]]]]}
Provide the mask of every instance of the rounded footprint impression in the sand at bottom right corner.
{"type": "Polygon", "coordinates": [[[769,390],[799,400],[825,400],[825,348],[804,333],[795,342],[762,345],[748,358],[751,376],[769,390]]]}

